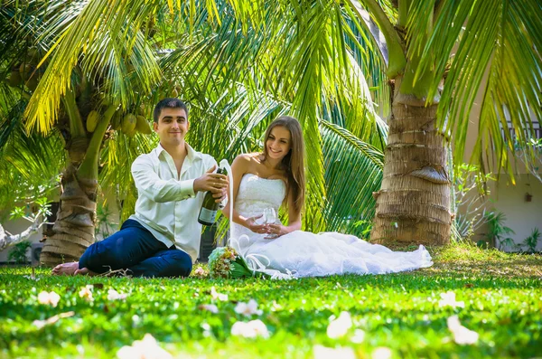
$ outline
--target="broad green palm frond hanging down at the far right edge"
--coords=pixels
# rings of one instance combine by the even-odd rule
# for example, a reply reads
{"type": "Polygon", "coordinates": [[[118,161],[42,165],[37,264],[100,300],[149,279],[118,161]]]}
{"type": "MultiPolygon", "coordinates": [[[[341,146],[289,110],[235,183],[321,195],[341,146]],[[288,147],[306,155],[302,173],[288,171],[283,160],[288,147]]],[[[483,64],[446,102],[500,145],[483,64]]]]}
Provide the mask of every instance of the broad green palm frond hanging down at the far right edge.
{"type": "MultiPolygon", "coordinates": [[[[473,6],[439,107],[440,117],[449,113],[451,119],[441,125],[455,129],[454,156],[458,160],[463,158],[468,114],[487,74],[472,160],[485,149],[486,154],[496,156],[487,165],[507,166],[510,175],[513,173],[509,124],[518,140],[527,142],[534,133],[533,118],[542,118],[542,40],[536,33],[542,28],[536,15],[541,10],[536,0],[477,2],[473,6]]],[[[535,156],[532,148],[530,156],[535,156]]]]}

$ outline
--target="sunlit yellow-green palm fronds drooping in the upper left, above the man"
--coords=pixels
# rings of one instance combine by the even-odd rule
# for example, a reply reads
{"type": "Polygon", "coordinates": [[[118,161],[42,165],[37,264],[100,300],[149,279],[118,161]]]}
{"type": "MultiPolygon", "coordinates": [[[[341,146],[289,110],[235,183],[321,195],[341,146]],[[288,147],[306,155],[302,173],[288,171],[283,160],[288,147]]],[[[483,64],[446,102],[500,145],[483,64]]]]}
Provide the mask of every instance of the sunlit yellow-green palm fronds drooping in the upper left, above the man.
{"type": "Polygon", "coordinates": [[[108,97],[123,106],[134,102],[135,90],[150,94],[161,81],[160,71],[140,29],[161,5],[144,0],[132,1],[129,6],[120,0],[76,2],[70,8],[76,13],[69,18],[52,17],[47,36],[54,43],[46,55],[50,64],[26,110],[27,127],[50,130],[79,61],[89,73],[105,75],[108,97]],[[138,71],[130,74],[125,59],[140,65],[138,71]]]}

